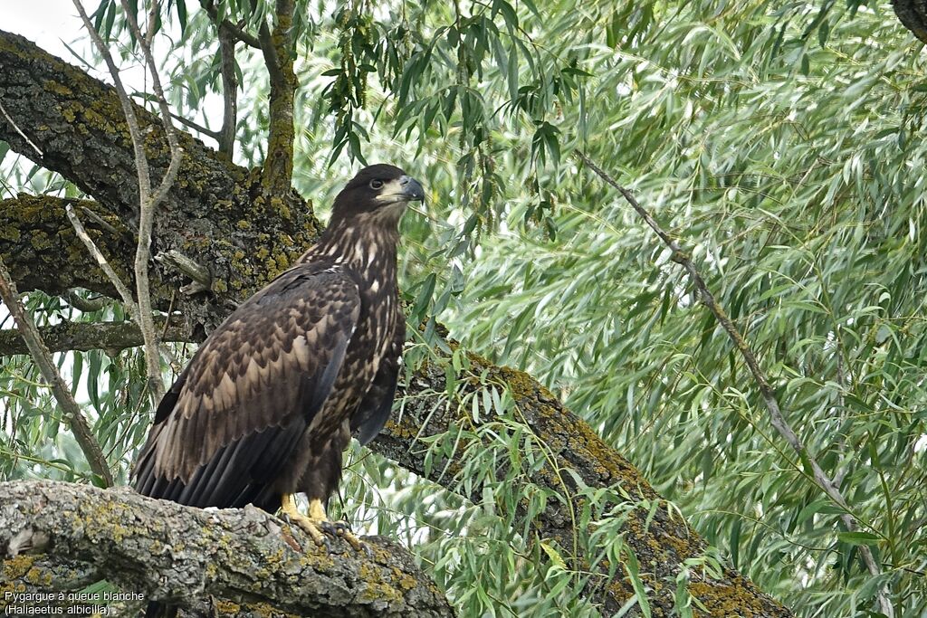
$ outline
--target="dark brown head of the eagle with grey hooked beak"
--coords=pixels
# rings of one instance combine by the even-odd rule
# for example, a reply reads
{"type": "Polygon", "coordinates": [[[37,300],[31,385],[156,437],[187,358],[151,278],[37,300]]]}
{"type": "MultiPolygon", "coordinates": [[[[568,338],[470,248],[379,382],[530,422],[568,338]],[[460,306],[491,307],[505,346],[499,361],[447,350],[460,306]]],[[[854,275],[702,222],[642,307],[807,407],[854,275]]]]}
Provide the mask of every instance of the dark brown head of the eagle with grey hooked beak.
{"type": "Polygon", "coordinates": [[[403,170],[392,165],[371,165],[357,172],[337,195],[332,221],[395,225],[406,204],[424,200],[422,183],[403,170]]]}

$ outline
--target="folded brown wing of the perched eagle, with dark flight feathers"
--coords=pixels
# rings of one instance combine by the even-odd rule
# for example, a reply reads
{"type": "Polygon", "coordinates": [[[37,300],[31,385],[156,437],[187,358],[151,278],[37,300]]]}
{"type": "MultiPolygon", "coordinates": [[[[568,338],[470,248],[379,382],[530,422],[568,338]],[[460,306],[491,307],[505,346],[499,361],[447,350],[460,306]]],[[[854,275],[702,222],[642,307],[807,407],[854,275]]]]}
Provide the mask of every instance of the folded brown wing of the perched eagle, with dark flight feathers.
{"type": "Polygon", "coordinates": [[[279,503],[268,487],[331,393],[359,312],[348,275],[310,264],[235,309],[161,400],[136,489],[201,507],[279,503]]]}

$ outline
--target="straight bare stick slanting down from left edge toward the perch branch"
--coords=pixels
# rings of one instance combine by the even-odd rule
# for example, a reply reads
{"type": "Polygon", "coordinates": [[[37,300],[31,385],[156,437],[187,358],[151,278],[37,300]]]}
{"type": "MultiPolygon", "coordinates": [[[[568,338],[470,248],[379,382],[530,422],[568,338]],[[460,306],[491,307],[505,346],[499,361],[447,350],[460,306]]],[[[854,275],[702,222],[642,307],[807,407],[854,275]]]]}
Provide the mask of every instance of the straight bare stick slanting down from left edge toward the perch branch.
{"type": "Polygon", "coordinates": [[[0,259],[0,298],[3,298],[6,309],[8,309],[13,316],[13,320],[19,328],[19,334],[22,335],[23,340],[26,342],[26,347],[29,349],[30,355],[32,355],[32,360],[35,361],[35,365],[39,368],[39,372],[42,373],[44,381],[51,386],[52,393],[55,395],[58,405],[61,406],[61,410],[64,410],[65,416],[70,424],[70,429],[74,433],[74,437],[77,439],[77,443],[80,445],[81,450],[83,450],[83,455],[87,458],[90,469],[103,479],[107,486],[111,486],[113,484],[113,477],[112,474],[109,473],[109,467],[106,458],[103,456],[103,450],[96,441],[87,420],[83,418],[81,407],[77,405],[77,401],[75,401],[74,397],[70,394],[70,388],[65,384],[61,374],[57,371],[57,366],[54,359],[52,359],[51,352],[45,347],[42,337],[39,336],[38,331],[35,329],[35,322],[32,322],[32,316],[22,306],[22,303],[19,302],[19,292],[16,289],[16,284],[13,283],[13,278],[10,276],[9,271],[6,271],[6,264],[4,264],[3,259],[0,259]]]}

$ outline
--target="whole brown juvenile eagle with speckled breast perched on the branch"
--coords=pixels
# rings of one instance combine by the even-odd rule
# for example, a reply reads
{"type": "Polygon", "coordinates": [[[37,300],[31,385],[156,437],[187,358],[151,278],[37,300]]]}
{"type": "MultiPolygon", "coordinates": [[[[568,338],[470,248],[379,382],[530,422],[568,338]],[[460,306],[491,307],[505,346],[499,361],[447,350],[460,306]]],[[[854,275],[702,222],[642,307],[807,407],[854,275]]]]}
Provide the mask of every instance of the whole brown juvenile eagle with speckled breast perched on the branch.
{"type": "Polygon", "coordinates": [[[398,224],[423,198],[388,165],[348,183],[318,244],[235,309],[161,400],[134,470],[140,493],[283,507],[317,543],[346,534],[324,505],[350,435],[370,441],[389,415],[405,334],[398,224]],[[308,518],[293,508],[297,492],[310,498],[308,518]]]}

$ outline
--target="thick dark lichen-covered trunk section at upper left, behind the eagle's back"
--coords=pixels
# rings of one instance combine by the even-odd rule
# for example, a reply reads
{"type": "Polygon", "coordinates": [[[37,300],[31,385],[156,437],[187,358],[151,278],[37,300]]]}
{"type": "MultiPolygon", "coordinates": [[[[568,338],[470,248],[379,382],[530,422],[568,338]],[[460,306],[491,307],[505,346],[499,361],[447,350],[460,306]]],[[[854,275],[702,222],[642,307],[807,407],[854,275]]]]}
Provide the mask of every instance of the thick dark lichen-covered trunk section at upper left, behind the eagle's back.
{"type": "MultiPolygon", "coordinates": [[[[94,195],[104,218],[127,221],[130,228],[135,227],[139,194],[133,181],[131,136],[112,87],[46,54],[22,37],[0,31],[0,102],[44,156],[39,157],[2,116],[0,140],[94,195]]],[[[145,135],[151,174],[163,177],[171,158],[163,127],[142,107],[135,107],[135,115],[145,135]]],[[[265,194],[260,188],[260,174],[249,175],[186,133],[181,133],[179,139],[187,156],[178,181],[155,214],[152,252],[175,249],[210,267],[211,292],[215,296],[178,296],[176,305],[191,326],[208,331],[222,321],[228,305],[252,294],[286,269],[317,237],[318,223],[311,208],[295,192],[265,194]]],[[[16,233],[15,229],[7,233],[0,225],[0,243],[16,233]]],[[[95,238],[97,246],[112,259],[114,253],[108,251],[107,241],[95,238]]],[[[9,259],[17,281],[29,289],[31,286],[19,275],[25,274],[30,280],[32,276],[16,271],[19,256],[7,254],[5,249],[0,252],[9,259]]],[[[78,260],[88,261],[83,257],[78,260]]],[[[67,264],[65,269],[73,271],[67,264]]],[[[95,268],[88,271],[101,274],[95,268]]],[[[49,274],[48,286],[66,276],[49,274]]],[[[159,309],[166,309],[174,290],[188,283],[179,274],[158,268],[151,271],[151,277],[152,302],[159,309]]],[[[78,273],[75,278],[85,276],[78,273]]],[[[126,277],[123,281],[129,283],[126,277]]],[[[95,285],[67,285],[77,286],[96,290],[95,285]]]]}

